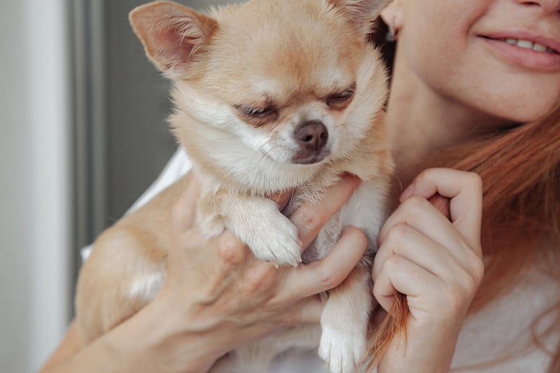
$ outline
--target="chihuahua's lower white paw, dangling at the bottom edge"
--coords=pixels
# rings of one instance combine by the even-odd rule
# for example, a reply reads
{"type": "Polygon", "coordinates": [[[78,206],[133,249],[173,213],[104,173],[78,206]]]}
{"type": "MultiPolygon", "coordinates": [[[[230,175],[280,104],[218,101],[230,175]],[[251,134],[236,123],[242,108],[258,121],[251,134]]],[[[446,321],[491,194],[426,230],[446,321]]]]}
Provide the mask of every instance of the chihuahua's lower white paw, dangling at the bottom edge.
{"type": "Polygon", "coordinates": [[[365,356],[365,336],[323,325],[318,354],[331,373],[357,372],[365,356]]]}

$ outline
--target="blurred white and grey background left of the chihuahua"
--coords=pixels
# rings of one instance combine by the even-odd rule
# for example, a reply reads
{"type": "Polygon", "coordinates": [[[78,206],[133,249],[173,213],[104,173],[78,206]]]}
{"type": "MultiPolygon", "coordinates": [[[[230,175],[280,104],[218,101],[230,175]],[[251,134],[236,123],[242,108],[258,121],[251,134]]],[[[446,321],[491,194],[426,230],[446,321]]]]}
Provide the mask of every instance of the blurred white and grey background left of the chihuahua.
{"type": "Polygon", "coordinates": [[[36,372],[52,353],[80,248],[176,149],[169,83],[127,19],[146,2],[0,0],[1,372],[36,372]]]}

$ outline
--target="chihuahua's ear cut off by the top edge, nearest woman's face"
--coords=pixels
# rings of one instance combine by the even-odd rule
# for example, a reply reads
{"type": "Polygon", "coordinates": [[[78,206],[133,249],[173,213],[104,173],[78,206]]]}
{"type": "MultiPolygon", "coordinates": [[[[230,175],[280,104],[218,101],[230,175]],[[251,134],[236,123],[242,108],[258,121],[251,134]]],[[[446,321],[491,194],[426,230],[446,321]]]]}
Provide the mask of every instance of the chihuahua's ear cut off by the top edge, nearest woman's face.
{"type": "Polygon", "coordinates": [[[339,8],[361,34],[370,32],[372,22],[379,17],[392,0],[329,0],[335,8],[339,8]]]}

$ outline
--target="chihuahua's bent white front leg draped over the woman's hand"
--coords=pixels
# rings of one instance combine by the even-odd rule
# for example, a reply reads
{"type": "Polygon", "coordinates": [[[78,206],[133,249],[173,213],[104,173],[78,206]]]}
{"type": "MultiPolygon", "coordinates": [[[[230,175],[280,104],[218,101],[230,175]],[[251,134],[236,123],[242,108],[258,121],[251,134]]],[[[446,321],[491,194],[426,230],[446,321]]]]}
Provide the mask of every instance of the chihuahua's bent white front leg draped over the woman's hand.
{"type": "Polygon", "coordinates": [[[261,260],[293,266],[301,262],[297,228],[272,199],[226,191],[208,193],[201,197],[197,214],[207,237],[215,237],[228,228],[261,260]]]}

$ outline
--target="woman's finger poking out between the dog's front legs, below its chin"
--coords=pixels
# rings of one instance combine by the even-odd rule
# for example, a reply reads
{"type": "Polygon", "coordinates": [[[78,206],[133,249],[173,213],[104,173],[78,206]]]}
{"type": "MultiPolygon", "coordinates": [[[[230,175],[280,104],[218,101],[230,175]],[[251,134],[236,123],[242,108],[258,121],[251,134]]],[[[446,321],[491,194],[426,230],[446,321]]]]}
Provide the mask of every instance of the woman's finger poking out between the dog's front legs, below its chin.
{"type": "Polygon", "coordinates": [[[290,216],[304,249],[315,239],[323,225],[348,202],[360,183],[358,177],[344,175],[338,183],[327,188],[321,197],[320,206],[304,203],[290,216]]]}

